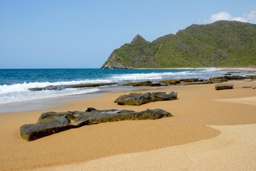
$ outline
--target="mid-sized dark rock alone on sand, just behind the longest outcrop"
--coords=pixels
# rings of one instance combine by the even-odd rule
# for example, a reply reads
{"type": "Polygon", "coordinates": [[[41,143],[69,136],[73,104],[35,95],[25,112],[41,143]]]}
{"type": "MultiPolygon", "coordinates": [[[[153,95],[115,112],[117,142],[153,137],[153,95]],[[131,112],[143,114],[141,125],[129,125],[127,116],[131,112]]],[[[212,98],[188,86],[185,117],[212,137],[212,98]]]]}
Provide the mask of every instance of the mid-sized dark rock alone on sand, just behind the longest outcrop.
{"type": "Polygon", "coordinates": [[[163,101],[163,100],[175,100],[177,99],[177,93],[171,92],[166,94],[165,92],[157,93],[130,93],[129,95],[121,95],[115,100],[118,105],[143,105],[145,103],[163,101]]]}

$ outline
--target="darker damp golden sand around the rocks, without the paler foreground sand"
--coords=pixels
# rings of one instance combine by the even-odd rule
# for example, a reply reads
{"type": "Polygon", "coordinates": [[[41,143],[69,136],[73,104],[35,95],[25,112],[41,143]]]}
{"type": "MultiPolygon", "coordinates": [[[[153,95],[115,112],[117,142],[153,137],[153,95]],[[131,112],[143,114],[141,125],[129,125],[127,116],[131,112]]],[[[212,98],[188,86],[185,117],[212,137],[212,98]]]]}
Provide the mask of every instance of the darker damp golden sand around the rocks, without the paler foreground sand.
{"type": "MultiPolygon", "coordinates": [[[[2,113],[0,115],[0,133],[3,137],[0,140],[0,170],[48,170],[50,167],[56,167],[58,170],[61,165],[79,166],[79,163],[82,165],[83,162],[90,163],[90,161],[98,161],[100,158],[104,160],[105,157],[111,156],[120,158],[119,155],[137,154],[137,152],[145,152],[146,156],[148,154],[146,152],[152,150],[167,150],[165,148],[168,147],[176,149],[180,147],[179,145],[194,147],[193,143],[204,140],[211,142],[222,135],[222,130],[211,128],[209,125],[255,124],[256,106],[250,104],[252,100],[256,102],[255,89],[242,87],[256,86],[256,82],[229,81],[228,83],[234,83],[234,89],[217,91],[214,84],[207,84],[134,90],[133,92],[138,93],[156,91],[178,93],[178,100],[140,106],[123,106],[113,103],[119,95],[128,94],[130,91],[109,92],[98,97],[66,101],[58,108],[50,110],[65,112],[92,107],[98,110],[115,108],[140,111],[147,108],[161,108],[172,113],[174,117],[101,123],[63,131],[32,142],[26,142],[21,138],[19,127],[36,123],[41,113],[49,111],[48,109],[2,113]],[[247,98],[250,98],[250,103],[246,103],[247,98]],[[229,102],[222,100],[229,100],[229,102]]],[[[230,129],[232,131],[232,127],[230,129]]]]}

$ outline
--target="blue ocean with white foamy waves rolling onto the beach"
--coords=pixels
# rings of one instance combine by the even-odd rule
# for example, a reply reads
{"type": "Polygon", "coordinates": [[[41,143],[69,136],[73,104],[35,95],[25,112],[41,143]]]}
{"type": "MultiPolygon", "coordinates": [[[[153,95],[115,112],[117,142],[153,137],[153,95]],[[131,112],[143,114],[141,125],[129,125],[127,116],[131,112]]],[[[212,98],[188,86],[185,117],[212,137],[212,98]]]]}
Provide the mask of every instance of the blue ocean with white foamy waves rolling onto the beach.
{"type": "MultiPolygon", "coordinates": [[[[208,69],[0,69],[0,113],[47,108],[46,105],[66,98],[84,98],[123,86],[65,88],[63,90],[32,91],[29,88],[84,83],[158,82],[176,78],[223,76],[228,71],[208,69]]],[[[236,73],[232,73],[236,74],[236,73]]],[[[237,75],[250,72],[240,71],[237,75]]]]}

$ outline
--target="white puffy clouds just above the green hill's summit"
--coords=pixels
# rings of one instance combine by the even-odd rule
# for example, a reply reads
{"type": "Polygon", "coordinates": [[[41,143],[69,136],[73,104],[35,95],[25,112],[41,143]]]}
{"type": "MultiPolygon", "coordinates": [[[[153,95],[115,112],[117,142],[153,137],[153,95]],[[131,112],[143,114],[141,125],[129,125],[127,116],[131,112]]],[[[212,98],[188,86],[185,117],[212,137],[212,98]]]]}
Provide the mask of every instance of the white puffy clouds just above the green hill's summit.
{"type": "Polygon", "coordinates": [[[217,14],[213,14],[210,16],[210,23],[220,20],[227,20],[227,21],[241,21],[241,22],[248,22],[252,24],[256,24],[256,11],[251,11],[250,14],[245,16],[232,16],[226,11],[222,11],[217,14]]]}

